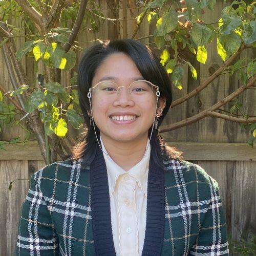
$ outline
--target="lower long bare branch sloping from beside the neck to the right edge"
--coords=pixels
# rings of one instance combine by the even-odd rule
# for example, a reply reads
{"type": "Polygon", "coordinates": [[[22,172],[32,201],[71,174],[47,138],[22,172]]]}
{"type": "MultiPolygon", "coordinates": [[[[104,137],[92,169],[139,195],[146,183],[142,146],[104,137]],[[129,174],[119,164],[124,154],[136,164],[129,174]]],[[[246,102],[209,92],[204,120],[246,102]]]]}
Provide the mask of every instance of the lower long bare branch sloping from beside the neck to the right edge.
{"type": "MultiPolygon", "coordinates": [[[[256,82],[256,75],[254,75],[252,78],[249,79],[248,83],[245,86],[241,86],[236,91],[229,94],[227,97],[223,98],[216,104],[212,105],[210,108],[198,113],[197,115],[191,116],[189,118],[183,119],[179,122],[165,125],[161,129],[159,129],[160,133],[165,133],[169,131],[173,131],[175,129],[178,129],[180,127],[186,126],[190,123],[195,123],[198,120],[203,119],[204,117],[210,116],[209,114],[212,114],[212,111],[215,111],[219,109],[222,105],[226,104],[227,102],[230,102],[233,98],[237,97],[239,94],[241,94],[243,91],[245,91],[247,88],[254,86],[256,82]]],[[[246,120],[246,119],[244,119],[246,120]]]]}

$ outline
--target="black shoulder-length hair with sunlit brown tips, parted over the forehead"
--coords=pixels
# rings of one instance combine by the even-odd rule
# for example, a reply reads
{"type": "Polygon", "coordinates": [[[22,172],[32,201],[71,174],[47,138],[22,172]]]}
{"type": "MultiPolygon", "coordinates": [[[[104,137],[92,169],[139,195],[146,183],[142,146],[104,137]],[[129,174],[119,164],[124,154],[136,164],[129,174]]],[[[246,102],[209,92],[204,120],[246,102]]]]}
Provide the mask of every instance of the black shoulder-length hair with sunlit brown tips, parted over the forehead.
{"type": "MultiPolygon", "coordinates": [[[[110,40],[89,48],[80,60],[77,74],[79,103],[87,130],[82,141],[73,148],[73,158],[83,158],[83,161],[86,161],[88,165],[90,165],[96,154],[98,144],[93,125],[90,124],[90,117],[88,115],[90,103],[87,94],[92,86],[92,80],[97,69],[106,57],[114,53],[124,53],[132,58],[143,78],[156,84],[159,87],[160,97],[166,98],[165,108],[163,109],[162,116],[159,118],[158,127],[162,123],[172,103],[172,84],[164,67],[150,47],[144,46],[133,39],[120,39],[110,40]]],[[[150,136],[151,129],[152,126],[148,130],[148,137],[150,136]]],[[[95,130],[99,139],[100,133],[96,124],[95,130]]],[[[166,154],[167,152],[175,158],[181,157],[181,154],[175,151],[174,148],[169,148],[171,150],[166,151],[166,145],[158,129],[153,129],[150,143],[153,160],[158,166],[163,167],[162,161],[167,160],[166,157],[169,155],[166,154]]]]}

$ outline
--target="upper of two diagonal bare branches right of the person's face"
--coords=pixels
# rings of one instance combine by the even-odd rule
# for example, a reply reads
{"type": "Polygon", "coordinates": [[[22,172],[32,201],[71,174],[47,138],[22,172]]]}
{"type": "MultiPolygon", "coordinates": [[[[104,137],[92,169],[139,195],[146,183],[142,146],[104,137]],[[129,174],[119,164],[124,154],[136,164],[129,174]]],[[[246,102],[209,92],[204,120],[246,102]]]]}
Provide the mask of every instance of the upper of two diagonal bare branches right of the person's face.
{"type": "Polygon", "coordinates": [[[218,70],[215,71],[214,74],[212,74],[211,76],[209,76],[200,86],[198,86],[196,89],[194,89],[193,91],[191,91],[190,93],[186,94],[184,97],[181,97],[175,101],[173,101],[172,105],[170,106],[170,108],[174,108],[175,106],[183,103],[184,101],[190,99],[191,97],[195,96],[196,94],[198,94],[199,92],[201,92],[205,87],[208,86],[208,84],[210,84],[212,81],[214,81],[221,73],[222,71],[230,66],[234,60],[236,60],[237,56],[247,47],[245,45],[242,45],[241,48],[234,54],[232,55],[225,63],[222,67],[220,67],[218,70]]]}

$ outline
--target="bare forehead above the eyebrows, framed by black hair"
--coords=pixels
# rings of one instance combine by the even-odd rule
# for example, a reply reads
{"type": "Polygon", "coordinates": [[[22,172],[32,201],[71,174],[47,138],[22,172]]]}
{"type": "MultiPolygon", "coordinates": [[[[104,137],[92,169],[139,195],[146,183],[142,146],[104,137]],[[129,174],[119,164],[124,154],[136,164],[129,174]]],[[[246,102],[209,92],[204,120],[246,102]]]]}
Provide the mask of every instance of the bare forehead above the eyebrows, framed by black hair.
{"type": "Polygon", "coordinates": [[[139,80],[143,79],[135,62],[124,53],[114,53],[106,57],[97,68],[93,82],[100,80],[139,80]]]}

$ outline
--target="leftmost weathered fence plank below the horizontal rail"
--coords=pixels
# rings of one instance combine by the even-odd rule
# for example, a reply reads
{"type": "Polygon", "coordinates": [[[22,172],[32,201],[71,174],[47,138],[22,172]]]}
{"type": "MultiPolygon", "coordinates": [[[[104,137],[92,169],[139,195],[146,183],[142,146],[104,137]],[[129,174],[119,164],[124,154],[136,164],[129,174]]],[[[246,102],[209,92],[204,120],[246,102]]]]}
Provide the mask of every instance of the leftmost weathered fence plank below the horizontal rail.
{"type": "Polygon", "coordinates": [[[8,190],[15,179],[28,179],[28,161],[0,161],[1,255],[14,255],[20,208],[28,191],[28,180],[17,180],[8,190]]]}

